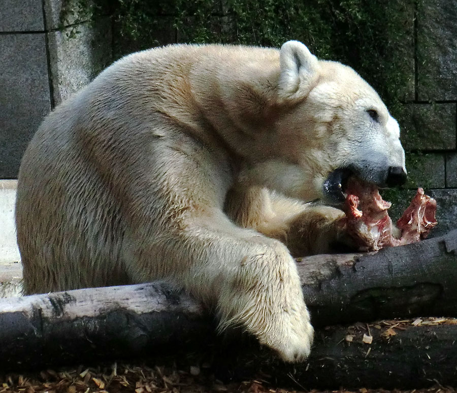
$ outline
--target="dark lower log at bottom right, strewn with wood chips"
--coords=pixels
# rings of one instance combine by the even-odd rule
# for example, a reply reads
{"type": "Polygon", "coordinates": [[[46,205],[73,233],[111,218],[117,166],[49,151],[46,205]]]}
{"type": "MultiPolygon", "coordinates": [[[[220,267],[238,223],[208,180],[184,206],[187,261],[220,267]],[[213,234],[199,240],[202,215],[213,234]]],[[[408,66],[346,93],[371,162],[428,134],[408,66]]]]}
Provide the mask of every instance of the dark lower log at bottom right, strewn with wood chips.
{"type": "Polygon", "coordinates": [[[457,325],[409,322],[400,327],[389,337],[387,326],[382,324],[380,330],[372,326],[371,344],[363,342],[368,329],[355,329],[350,343],[345,338],[353,329],[347,326],[319,329],[310,357],[297,365],[277,362],[262,352],[256,357],[254,350],[238,356],[221,353],[215,373],[222,380],[249,380],[261,371],[270,376],[264,376],[267,380],[300,390],[457,386],[457,325]]]}

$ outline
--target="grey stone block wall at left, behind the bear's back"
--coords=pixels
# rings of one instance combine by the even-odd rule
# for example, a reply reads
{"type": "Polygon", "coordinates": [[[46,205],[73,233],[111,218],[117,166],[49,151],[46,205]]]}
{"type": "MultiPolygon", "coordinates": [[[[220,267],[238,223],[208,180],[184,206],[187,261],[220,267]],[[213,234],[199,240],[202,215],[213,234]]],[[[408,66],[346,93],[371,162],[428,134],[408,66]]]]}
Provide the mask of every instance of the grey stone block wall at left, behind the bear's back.
{"type": "Polygon", "coordinates": [[[81,20],[73,12],[76,3],[2,3],[0,179],[17,177],[22,153],[45,115],[112,60],[109,18],[81,20]]]}

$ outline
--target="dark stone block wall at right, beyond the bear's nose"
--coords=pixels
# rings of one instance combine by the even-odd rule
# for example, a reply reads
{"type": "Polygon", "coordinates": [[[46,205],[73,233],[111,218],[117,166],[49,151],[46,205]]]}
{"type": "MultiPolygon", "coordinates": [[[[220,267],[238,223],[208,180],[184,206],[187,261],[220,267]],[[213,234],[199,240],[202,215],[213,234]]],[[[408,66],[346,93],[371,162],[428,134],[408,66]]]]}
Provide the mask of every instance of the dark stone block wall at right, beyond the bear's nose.
{"type": "MultiPolygon", "coordinates": [[[[457,220],[457,1],[419,0],[414,19],[414,99],[401,124],[408,188],[424,187],[438,203],[435,235],[457,220]]],[[[411,192],[396,195],[397,210],[411,192]]]]}

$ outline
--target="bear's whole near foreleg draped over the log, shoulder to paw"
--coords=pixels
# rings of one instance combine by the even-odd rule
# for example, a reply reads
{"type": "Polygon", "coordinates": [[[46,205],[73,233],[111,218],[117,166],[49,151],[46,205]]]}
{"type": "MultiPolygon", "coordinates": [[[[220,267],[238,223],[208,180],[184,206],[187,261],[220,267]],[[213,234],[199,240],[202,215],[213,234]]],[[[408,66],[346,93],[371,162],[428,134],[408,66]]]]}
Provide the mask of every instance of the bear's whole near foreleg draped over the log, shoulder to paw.
{"type": "Polygon", "coordinates": [[[169,279],[214,306],[221,330],[241,326],[285,361],[305,358],[313,328],[295,260],[283,243],[222,211],[219,159],[211,166],[205,150],[200,162],[181,150],[155,155],[157,166],[147,172],[156,177],[154,188],[140,182],[146,187],[126,211],[135,213],[127,217],[122,253],[132,282],[169,279]]]}

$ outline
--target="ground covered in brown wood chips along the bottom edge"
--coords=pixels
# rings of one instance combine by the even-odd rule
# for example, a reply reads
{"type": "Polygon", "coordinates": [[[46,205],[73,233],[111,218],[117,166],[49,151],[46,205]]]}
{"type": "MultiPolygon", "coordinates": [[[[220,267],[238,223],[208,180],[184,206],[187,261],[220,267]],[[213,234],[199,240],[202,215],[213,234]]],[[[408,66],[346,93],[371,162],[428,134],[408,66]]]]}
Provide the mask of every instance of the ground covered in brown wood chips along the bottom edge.
{"type": "MultiPolygon", "coordinates": [[[[186,369],[171,366],[112,364],[97,368],[67,368],[44,370],[31,374],[9,374],[0,376],[0,393],[323,393],[322,390],[293,386],[276,386],[265,375],[250,380],[223,383],[211,374],[205,364],[186,369]]],[[[454,393],[452,387],[436,384],[427,389],[415,390],[325,390],[332,393],[454,393]]]]}

